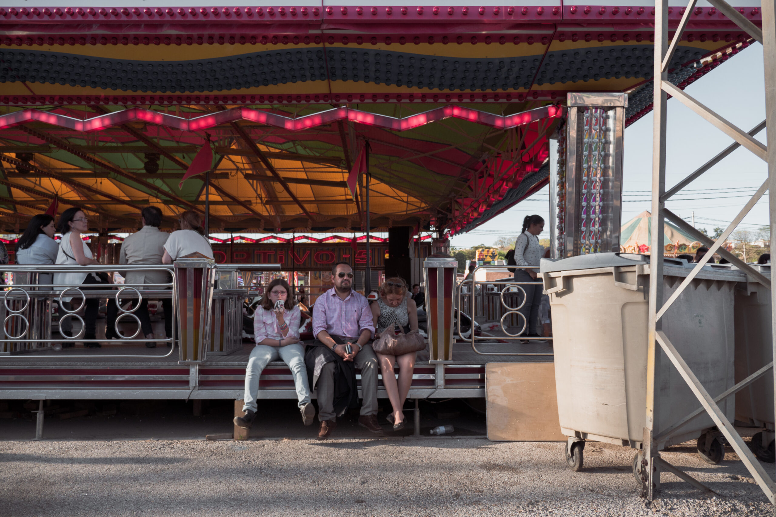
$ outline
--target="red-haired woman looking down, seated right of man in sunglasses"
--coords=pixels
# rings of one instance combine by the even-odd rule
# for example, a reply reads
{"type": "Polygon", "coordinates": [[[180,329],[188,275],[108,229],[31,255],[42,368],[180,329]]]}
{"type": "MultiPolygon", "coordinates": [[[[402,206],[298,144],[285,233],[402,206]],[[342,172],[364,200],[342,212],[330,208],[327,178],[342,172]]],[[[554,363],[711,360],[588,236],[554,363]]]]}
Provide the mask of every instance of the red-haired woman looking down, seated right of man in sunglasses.
{"type": "MultiPolygon", "coordinates": [[[[374,318],[375,339],[386,329],[390,332],[393,325],[398,323],[404,333],[417,330],[417,305],[411,298],[407,298],[407,284],[399,277],[389,278],[379,291],[377,302],[372,304],[372,317],[374,318]]],[[[393,430],[398,431],[404,427],[404,401],[410,392],[412,384],[412,372],[415,368],[415,352],[404,353],[400,356],[389,356],[383,353],[377,354],[380,371],[383,374],[383,385],[388,392],[388,399],[393,406],[393,412],[388,415],[388,422],[393,424],[393,430]],[[399,380],[393,371],[393,364],[399,364],[399,380]]]]}

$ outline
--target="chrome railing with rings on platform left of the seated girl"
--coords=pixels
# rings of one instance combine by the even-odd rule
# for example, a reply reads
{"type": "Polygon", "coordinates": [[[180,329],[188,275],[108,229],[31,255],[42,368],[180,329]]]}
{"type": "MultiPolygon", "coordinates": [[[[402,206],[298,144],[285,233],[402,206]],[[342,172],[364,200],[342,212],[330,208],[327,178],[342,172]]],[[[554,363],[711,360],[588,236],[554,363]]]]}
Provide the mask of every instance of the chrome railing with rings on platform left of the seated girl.
{"type": "MultiPolygon", "coordinates": [[[[215,277],[218,282],[212,290],[212,295],[206,302],[206,308],[201,317],[205,326],[202,343],[197,353],[198,362],[204,360],[207,353],[224,354],[234,351],[242,344],[242,302],[251,295],[260,295],[265,290],[265,284],[260,278],[255,284],[251,277],[257,271],[279,271],[280,264],[214,264],[215,277]],[[237,277],[242,274],[248,277],[248,286],[238,286],[237,277]]],[[[3,271],[13,274],[13,284],[6,287],[2,293],[0,303],[0,360],[13,358],[29,358],[29,353],[52,350],[55,343],[79,342],[79,343],[111,343],[133,344],[154,341],[156,343],[169,343],[170,350],[165,354],[153,353],[63,353],[63,354],[34,354],[34,357],[47,360],[61,360],[62,358],[166,358],[175,352],[175,344],[178,343],[178,321],[172,325],[171,337],[166,339],[147,339],[141,333],[140,318],[137,317],[137,309],[143,298],[158,300],[171,299],[171,311],[174,319],[193,319],[193,315],[182,315],[178,310],[179,286],[175,279],[175,267],[173,264],[95,264],[89,266],[75,265],[5,265],[3,271]],[[165,271],[170,275],[170,281],[161,284],[54,284],[40,283],[43,280],[52,281],[57,273],[112,273],[114,271],[138,272],[138,271],[165,271]],[[64,298],[81,298],[78,307],[68,307],[64,298]],[[83,339],[85,334],[85,321],[78,312],[86,305],[87,299],[105,299],[108,303],[116,303],[118,314],[113,330],[120,339],[83,339]],[[132,308],[125,308],[126,303],[132,301],[132,308]],[[65,319],[77,319],[80,323],[78,333],[68,336],[62,333],[61,337],[52,338],[54,326],[53,304],[57,302],[60,312],[59,322],[65,319]],[[125,319],[133,319],[137,322],[137,330],[131,336],[125,336],[120,329],[120,322],[125,319]]],[[[189,286],[192,288],[192,286],[189,286]]],[[[190,298],[190,297],[189,297],[190,298]]],[[[188,325],[187,325],[188,326],[188,325]]],[[[193,330],[193,329],[192,329],[193,330]]],[[[197,338],[199,339],[199,338],[197,338]]],[[[179,347],[178,347],[179,348],[179,347]]],[[[185,358],[182,358],[185,359],[185,358]]]]}

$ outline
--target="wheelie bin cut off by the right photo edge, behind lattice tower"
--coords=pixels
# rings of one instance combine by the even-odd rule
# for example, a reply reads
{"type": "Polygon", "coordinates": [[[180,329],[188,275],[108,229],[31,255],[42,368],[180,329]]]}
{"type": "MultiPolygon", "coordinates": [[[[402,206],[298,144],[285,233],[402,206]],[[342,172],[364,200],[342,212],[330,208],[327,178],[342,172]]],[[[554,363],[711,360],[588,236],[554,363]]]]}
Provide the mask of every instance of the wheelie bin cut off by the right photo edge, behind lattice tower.
{"type": "MultiPolygon", "coordinates": [[[[771,264],[750,264],[771,277],[771,264]]],[[[736,383],[773,360],[771,291],[747,274],[736,289],[736,383]]],[[[757,381],[736,393],[736,420],[761,427],[752,436],[752,452],[774,463],[774,377],[767,371],[757,381]]]]}

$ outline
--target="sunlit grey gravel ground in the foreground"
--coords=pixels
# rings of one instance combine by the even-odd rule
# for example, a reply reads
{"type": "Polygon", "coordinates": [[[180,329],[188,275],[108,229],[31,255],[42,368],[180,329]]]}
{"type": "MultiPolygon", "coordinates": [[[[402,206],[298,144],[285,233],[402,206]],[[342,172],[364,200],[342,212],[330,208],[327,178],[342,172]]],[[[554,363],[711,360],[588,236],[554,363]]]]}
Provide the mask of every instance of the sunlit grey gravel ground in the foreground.
{"type": "MultiPolygon", "coordinates": [[[[0,515],[773,515],[735,453],[663,453],[717,491],[663,474],[646,505],[633,451],[487,439],[0,442],[0,515]]],[[[766,467],[770,472],[773,465],[766,467]]]]}

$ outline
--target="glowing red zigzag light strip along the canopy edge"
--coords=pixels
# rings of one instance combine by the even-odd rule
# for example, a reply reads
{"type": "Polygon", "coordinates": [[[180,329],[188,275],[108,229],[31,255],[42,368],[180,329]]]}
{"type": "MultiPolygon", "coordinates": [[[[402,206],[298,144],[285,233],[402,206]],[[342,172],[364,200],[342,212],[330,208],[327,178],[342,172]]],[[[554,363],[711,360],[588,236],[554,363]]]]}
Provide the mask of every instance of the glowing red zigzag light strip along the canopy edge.
{"type": "Polygon", "coordinates": [[[323,126],[338,120],[351,120],[367,126],[376,126],[394,131],[407,131],[424,126],[431,122],[454,118],[468,120],[490,126],[496,129],[511,129],[517,126],[525,126],[540,119],[559,118],[563,116],[563,106],[546,105],[541,108],[530,109],[527,112],[514,113],[514,115],[494,115],[477,109],[463,108],[459,105],[446,105],[441,108],[431,109],[428,112],[410,115],[404,119],[397,119],[386,115],[377,115],[361,111],[359,109],[335,108],[312,115],[304,115],[296,119],[265,112],[251,108],[233,108],[223,112],[200,115],[193,119],[184,119],[167,113],[154,112],[144,108],[124,109],[120,112],[99,115],[91,119],[74,119],[67,115],[53,112],[44,112],[40,109],[24,109],[20,112],[12,112],[0,115],[0,129],[17,126],[25,122],[46,122],[52,126],[59,126],[83,133],[101,131],[113,126],[120,126],[128,122],[151,122],[158,126],[165,126],[180,131],[201,131],[214,126],[220,126],[238,120],[249,120],[267,126],[287,129],[289,131],[301,131],[317,126],[323,126]]]}

